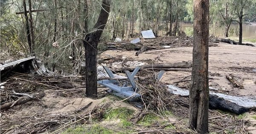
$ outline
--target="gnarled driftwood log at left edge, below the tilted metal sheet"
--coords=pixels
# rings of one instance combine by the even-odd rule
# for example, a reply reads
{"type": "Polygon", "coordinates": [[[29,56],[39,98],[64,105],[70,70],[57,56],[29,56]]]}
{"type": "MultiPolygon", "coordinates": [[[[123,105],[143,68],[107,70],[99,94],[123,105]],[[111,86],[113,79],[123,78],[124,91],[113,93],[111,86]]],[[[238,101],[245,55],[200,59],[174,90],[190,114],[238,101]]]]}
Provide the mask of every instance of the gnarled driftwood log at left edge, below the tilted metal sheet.
{"type": "Polygon", "coordinates": [[[37,100],[38,98],[42,98],[44,96],[45,96],[45,94],[41,93],[41,94],[37,94],[37,95],[33,96],[32,98],[28,97],[28,96],[19,98],[16,101],[12,101],[12,102],[5,103],[5,104],[1,105],[1,111],[8,110],[8,109],[12,108],[13,106],[21,105],[21,104],[27,103],[29,101],[37,100]]]}

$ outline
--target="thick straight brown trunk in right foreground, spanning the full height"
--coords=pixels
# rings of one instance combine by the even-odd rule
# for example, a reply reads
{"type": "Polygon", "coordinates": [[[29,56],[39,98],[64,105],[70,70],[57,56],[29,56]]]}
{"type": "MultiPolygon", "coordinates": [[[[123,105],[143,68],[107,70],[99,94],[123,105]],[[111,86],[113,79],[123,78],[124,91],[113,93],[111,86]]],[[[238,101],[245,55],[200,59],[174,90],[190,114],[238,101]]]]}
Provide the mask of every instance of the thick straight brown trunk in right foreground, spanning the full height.
{"type": "Polygon", "coordinates": [[[208,133],[209,83],[209,0],[194,0],[194,34],[189,127],[199,134],[208,133]]]}

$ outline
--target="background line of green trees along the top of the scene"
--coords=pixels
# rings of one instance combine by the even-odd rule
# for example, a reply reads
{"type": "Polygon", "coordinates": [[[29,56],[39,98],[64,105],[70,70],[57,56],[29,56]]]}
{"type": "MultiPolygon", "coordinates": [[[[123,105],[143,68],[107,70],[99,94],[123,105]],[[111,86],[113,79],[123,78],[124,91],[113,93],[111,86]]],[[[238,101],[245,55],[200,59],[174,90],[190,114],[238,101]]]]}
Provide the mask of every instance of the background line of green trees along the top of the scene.
{"type": "MultiPolygon", "coordinates": [[[[1,0],[1,54],[35,53],[52,70],[79,70],[77,65],[84,60],[82,39],[93,31],[100,9],[97,0],[1,0]]],[[[193,18],[192,0],[112,0],[101,40],[136,37],[147,29],[157,36],[178,36],[182,24],[193,18]]],[[[210,0],[211,30],[224,26],[223,35],[228,37],[233,23],[240,26],[241,35],[244,22],[256,22],[256,0],[210,0]]]]}

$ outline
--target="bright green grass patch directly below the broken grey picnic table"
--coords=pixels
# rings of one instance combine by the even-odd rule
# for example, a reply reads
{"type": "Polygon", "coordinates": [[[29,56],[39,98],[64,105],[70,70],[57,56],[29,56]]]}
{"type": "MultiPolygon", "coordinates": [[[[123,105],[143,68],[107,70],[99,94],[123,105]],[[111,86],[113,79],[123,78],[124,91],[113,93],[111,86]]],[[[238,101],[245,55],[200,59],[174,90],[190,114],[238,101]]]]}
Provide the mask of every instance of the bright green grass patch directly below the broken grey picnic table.
{"type": "Polygon", "coordinates": [[[111,119],[120,119],[122,123],[122,127],[128,127],[131,126],[132,123],[128,121],[128,119],[134,114],[134,110],[128,109],[128,108],[111,108],[108,109],[103,117],[106,120],[111,119]]]}

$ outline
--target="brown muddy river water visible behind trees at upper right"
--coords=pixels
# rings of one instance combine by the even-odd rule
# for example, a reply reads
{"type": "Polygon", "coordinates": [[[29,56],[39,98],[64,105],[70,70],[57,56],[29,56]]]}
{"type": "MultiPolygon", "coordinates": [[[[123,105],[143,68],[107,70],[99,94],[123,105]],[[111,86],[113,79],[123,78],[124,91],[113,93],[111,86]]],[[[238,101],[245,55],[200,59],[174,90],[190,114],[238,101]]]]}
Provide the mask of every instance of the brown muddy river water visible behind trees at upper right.
{"type": "MultiPolygon", "coordinates": [[[[183,23],[182,24],[182,30],[186,32],[188,29],[193,29],[193,24],[189,23],[183,23]]],[[[210,35],[220,36],[223,37],[224,34],[224,27],[217,27],[216,30],[214,30],[214,27],[210,26],[210,35]]],[[[239,25],[231,25],[229,30],[229,37],[238,38],[239,33],[239,25]]],[[[253,25],[243,25],[243,38],[246,39],[255,39],[256,38],[256,24],[253,25]]]]}

